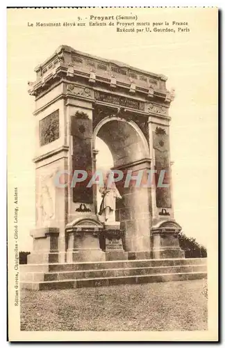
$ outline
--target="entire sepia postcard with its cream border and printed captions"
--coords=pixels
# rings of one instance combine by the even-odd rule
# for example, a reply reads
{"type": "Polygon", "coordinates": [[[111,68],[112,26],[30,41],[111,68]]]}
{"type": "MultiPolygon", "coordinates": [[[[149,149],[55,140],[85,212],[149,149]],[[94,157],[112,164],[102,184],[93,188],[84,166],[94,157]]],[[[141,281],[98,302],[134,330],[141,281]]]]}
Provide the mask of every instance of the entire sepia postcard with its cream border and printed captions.
{"type": "Polygon", "coordinates": [[[217,8],[7,12],[9,339],[217,341],[217,8]]]}

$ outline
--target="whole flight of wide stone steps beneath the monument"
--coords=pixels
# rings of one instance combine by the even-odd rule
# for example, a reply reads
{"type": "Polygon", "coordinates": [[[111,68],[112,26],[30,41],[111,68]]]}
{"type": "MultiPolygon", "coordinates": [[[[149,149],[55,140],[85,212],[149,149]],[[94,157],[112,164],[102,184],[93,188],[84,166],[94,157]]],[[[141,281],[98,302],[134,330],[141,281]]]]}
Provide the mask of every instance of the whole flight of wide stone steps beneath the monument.
{"type": "Polygon", "coordinates": [[[129,260],[27,264],[20,271],[21,288],[65,289],[119,284],[153,283],[207,277],[207,259],[129,260]],[[144,278],[143,278],[144,277],[144,278]],[[99,285],[98,285],[99,284],[99,285]]]}

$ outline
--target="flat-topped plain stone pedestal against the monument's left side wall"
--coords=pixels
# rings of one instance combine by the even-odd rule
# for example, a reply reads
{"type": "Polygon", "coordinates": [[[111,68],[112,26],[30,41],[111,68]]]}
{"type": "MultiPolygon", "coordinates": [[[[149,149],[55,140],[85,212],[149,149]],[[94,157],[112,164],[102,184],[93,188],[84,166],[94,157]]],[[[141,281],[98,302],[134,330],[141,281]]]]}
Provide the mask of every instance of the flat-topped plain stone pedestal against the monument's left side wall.
{"type": "Polygon", "coordinates": [[[59,228],[37,228],[31,231],[33,251],[27,256],[28,264],[58,262],[59,228]]]}

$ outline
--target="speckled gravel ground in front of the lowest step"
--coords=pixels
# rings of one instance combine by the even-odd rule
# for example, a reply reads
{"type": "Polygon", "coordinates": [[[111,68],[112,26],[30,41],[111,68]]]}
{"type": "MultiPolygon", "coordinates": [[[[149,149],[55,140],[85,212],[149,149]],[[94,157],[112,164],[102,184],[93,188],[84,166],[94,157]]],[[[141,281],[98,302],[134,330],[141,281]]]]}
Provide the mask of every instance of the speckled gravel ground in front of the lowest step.
{"type": "Polygon", "coordinates": [[[21,293],[24,331],[207,330],[205,280],[21,293]]]}

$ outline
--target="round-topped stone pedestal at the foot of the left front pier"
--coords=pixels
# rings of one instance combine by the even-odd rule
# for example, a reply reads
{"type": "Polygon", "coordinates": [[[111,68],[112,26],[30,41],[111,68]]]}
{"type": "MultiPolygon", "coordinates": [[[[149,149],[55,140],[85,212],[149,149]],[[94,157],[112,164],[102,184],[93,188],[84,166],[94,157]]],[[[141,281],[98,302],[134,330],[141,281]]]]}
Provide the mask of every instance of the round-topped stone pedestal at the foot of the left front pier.
{"type": "Polygon", "coordinates": [[[67,225],[67,262],[105,261],[99,246],[101,224],[94,219],[78,219],[67,225]]]}

